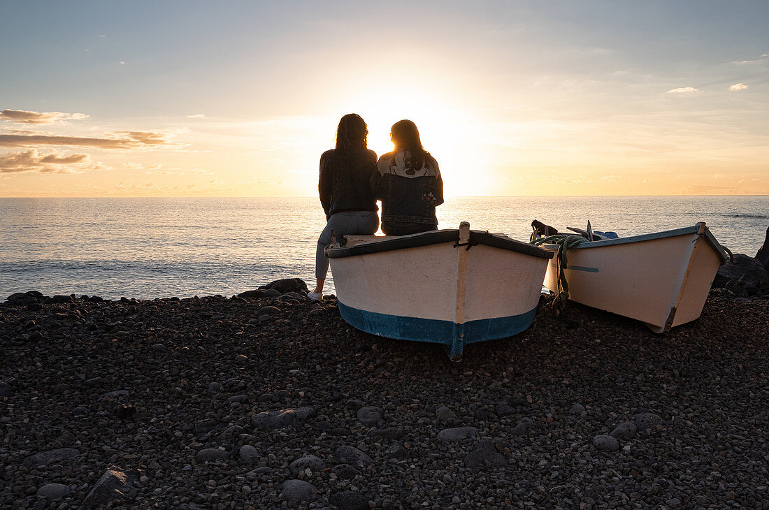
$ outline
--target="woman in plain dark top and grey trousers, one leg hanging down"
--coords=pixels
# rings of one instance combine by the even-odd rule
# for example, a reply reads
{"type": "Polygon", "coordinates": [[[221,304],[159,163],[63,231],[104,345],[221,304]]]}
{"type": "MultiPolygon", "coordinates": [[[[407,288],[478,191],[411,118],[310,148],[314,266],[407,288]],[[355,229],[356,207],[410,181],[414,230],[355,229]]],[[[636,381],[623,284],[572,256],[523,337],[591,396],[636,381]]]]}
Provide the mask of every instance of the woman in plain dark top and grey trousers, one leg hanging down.
{"type": "Polygon", "coordinates": [[[323,283],[328,273],[328,259],[323,249],[331,243],[331,230],[337,240],[355,233],[375,233],[379,227],[377,204],[371,191],[376,172],[377,154],[366,148],[368,127],[357,114],[347,114],[339,121],[336,148],[321,155],[318,192],[326,214],[325,229],[315,250],[315,290],[310,300],[323,297],[323,283]]]}

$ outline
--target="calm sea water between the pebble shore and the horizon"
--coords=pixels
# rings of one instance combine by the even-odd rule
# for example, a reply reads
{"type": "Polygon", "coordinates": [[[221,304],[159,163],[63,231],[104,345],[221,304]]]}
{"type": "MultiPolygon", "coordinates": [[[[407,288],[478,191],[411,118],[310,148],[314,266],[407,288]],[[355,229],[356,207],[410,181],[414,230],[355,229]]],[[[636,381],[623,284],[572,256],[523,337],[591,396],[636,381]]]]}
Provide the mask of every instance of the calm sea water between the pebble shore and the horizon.
{"type": "MultiPolygon", "coordinates": [[[[769,227],[769,197],[464,197],[438,208],[442,228],[467,220],[527,241],[534,218],[559,230],[589,219],[621,237],[705,221],[721,244],[752,257],[769,227]]],[[[285,277],[311,285],[324,226],[310,197],[3,198],[0,299],[26,290],[231,296],[285,277]]]]}

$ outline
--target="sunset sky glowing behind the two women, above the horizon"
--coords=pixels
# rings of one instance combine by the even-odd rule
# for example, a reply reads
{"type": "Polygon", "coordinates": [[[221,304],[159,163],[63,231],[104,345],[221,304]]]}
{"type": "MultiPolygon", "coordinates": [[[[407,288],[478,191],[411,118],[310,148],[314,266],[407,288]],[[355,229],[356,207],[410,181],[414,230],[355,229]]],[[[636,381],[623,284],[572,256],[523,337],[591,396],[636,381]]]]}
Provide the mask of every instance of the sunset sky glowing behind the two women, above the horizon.
{"type": "Polygon", "coordinates": [[[769,2],[0,1],[0,197],[317,194],[342,114],[448,195],[769,194],[769,2]]]}

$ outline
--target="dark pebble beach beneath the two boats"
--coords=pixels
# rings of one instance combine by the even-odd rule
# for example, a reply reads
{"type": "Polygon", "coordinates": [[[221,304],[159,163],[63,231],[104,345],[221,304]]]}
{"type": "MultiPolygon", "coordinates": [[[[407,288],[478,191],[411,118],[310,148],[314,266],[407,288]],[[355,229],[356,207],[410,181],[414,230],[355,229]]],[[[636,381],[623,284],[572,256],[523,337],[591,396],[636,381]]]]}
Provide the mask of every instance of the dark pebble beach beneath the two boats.
{"type": "Polygon", "coordinates": [[[2,508],[769,508],[769,300],[655,335],[542,296],[452,363],[333,296],[25,296],[2,508]]]}

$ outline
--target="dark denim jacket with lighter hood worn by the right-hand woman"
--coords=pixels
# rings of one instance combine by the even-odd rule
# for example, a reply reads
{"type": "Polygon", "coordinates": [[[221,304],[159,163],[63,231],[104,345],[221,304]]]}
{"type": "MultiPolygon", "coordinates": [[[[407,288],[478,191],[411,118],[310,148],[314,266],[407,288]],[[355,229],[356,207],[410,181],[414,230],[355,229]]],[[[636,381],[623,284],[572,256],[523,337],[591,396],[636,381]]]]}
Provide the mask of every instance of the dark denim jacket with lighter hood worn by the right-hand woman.
{"type": "Polygon", "coordinates": [[[411,152],[383,154],[371,187],[382,202],[382,227],[387,224],[438,226],[435,207],[443,204],[443,180],[438,161],[425,154],[424,166],[414,168],[411,152]]]}

